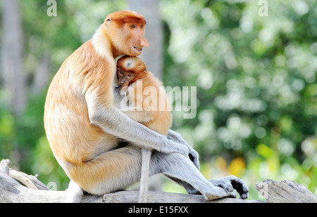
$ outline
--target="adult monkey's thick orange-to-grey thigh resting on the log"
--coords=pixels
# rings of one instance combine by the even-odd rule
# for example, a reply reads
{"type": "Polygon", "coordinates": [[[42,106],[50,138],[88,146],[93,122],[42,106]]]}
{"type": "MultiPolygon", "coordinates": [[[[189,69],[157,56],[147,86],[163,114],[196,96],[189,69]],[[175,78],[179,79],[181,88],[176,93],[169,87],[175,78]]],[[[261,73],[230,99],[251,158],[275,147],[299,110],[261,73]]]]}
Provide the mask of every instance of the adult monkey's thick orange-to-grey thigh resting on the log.
{"type": "Polygon", "coordinates": [[[70,179],[92,195],[104,195],[137,183],[141,178],[141,166],[141,150],[128,145],[70,168],[70,179]]]}

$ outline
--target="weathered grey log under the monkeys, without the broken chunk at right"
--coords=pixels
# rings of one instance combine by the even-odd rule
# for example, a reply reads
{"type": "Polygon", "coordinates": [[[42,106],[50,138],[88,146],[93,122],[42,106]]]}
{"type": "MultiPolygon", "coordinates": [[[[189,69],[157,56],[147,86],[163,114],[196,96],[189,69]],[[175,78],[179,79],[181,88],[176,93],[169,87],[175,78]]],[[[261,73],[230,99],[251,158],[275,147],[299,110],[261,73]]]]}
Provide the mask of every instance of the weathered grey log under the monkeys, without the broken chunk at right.
{"type": "MultiPolygon", "coordinates": [[[[37,176],[9,169],[11,162],[7,159],[0,163],[0,202],[7,203],[61,203],[66,201],[66,191],[53,191],[43,188],[43,183],[37,176]],[[13,174],[13,177],[11,175],[13,174]],[[27,185],[29,188],[16,181],[27,185]]],[[[104,196],[85,195],[84,203],[137,203],[139,192],[137,190],[123,190],[104,196]]],[[[185,195],[168,192],[149,192],[149,203],[252,203],[261,202],[235,198],[223,198],[207,201],[201,195],[185,195]]]]}

